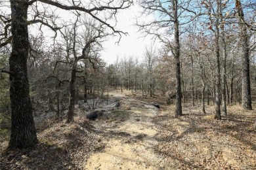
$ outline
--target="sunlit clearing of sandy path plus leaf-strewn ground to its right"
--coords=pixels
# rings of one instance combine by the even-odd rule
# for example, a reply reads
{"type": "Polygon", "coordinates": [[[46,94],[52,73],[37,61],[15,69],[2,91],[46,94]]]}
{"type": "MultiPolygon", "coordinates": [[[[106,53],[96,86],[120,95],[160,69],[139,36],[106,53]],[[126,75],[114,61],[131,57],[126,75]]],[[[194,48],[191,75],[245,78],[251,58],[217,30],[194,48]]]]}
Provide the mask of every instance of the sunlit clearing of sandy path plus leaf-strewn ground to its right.
{"type": "Polygon", "coordinates": [[[178,119],[174,106],[157,109],[131,98],[120,103],[129,118],[110,127],[95,122],[106,147],[85,169],[256,169],[255,111],[228,107],[230,116],[220,121],[213,107],[208,115],[187,107],[178,119]]]}

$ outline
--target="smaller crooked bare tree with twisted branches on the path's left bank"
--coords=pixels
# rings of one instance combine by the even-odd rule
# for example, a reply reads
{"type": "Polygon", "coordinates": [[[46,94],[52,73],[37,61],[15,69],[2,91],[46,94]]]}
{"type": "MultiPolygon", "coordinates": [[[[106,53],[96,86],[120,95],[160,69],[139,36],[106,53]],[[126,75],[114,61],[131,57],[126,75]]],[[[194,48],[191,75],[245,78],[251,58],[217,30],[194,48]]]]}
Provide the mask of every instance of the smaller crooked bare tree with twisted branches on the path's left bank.
{"type": "Polygon", "coordinates": [[[58,63],[68,63],[71,67],[67,123],[74,121],[76,76],[77,73],[83,71],[78,65],[79,61],[88,60],[96,69],[97,59],[93,56],[93,52],[101,50],[100,39],[108,35],[104,33],[104,29],[104,25],[98,25],[94,20],[80,23],[79,15],[77,15],[72,28],[66,28],[65,32],[61,31],[66,44],[66,61],[58,61],[58,63]],[[83,29],[83,33],[79,34],[78,29],[83,29]]]}

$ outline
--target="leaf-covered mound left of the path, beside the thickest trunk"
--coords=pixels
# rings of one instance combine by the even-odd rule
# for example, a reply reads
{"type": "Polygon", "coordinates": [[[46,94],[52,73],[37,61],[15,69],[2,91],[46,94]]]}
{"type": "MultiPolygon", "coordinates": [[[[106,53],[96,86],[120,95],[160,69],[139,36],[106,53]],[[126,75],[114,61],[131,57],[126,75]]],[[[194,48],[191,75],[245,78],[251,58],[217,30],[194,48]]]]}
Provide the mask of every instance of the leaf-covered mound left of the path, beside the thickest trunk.
{"type": "Polygon", "coordinates": [[[90,154],[104,149],[93,126],[83,118],[59,122],[38,134],[39,144],[23,150],[5,150],[0,169],[83,169],[90,154]]]}

